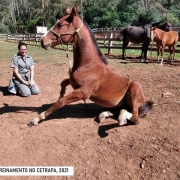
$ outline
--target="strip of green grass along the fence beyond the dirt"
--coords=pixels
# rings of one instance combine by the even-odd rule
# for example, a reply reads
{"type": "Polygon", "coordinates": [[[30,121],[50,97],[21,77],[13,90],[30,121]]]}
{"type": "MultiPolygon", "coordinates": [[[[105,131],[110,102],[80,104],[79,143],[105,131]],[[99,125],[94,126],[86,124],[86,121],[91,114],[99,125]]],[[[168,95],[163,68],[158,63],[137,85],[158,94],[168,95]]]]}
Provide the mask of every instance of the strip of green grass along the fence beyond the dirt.
{"type": "MultiPolygon", "coordinates": [[[[0,41],[0,48],[2,51],[0,52],[1,61],[9,61],[12,59],[13,55],[18,52],[17,43],[9,43],[5,41],[0,41]]],[[[107,53],[106,49],[101,49],[102,53],[107,53]]],[[[59,61],[67,61],[66,53],[62,50],[52,49],[51,51],[46,51],[42,49],[40,46],[31,46],[28,45],[28,53],[33,57],[35,62],[59,62],[59,61]]],[[[113,49],[112,54],[121,55],[121,49],[113,49]]],[[[72,59],[72,52],[68,52],[70,59],[72,59]]],[[[128,56],[135,55],[139,56],[141,54],[141,50],[133,50],[127,49],[126,54],[128,56]]],[[[164,58],[168,58],[169,53],[164,53],[164,58]]],[[[151,57],[151,52],[149,52],[149,57],[151,57]]],[[[155,51],[152,52],[152,57],[157,57],[157,53],[155,51]]],[[[175,59],[180,59],[180,53],[175,54],[175,59]]],[[[62,63],[63,63],[62,62],[62,63]]]]}

